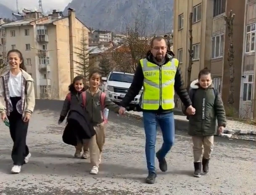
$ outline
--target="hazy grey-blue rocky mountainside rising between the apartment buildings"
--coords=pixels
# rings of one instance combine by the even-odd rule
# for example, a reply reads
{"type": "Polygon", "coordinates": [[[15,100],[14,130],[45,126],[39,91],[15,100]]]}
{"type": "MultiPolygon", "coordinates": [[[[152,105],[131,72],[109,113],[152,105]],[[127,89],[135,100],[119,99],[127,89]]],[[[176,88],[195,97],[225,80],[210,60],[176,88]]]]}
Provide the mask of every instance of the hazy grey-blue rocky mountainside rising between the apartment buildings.
{"type": "Polygon", "coordinates": [[[134,24],[135,17],[146,19],[146,33],[164,33],[172,30],[174,0],[72,0],[67,8],[76,10],[77,18],[93,29],[124,32],[134,24]]]}

